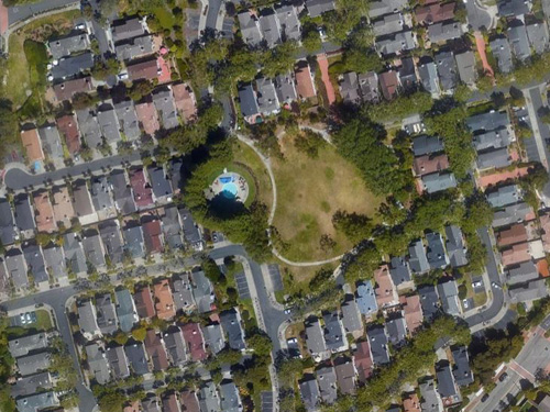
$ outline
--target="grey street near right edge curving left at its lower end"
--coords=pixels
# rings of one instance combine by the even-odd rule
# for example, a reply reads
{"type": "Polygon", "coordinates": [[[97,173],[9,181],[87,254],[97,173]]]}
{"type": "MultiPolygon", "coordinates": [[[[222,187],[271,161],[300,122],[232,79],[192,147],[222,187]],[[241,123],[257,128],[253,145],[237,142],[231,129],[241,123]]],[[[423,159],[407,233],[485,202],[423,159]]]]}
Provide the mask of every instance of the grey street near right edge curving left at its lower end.
{"type": "MultiPolygon", "coordinates": [[[[491,280],[491,290],[493,292],[493,302],[491,307],[488,307],[485,311],[471,315],[466,318],[468,325],[470,327],[479,326],[487,322],[487,326],[493,326],[493,322],[495,318],[498,315],[501,310],[503,309],[503,304],[505,301],[504,291],[501,287],[494,287],[493,282],[496,285],[502,285],[501,275],[498,272],[498,266],[496,263],[496,257],[493,252],[493,244],[491,242],[491,236],[488,234],[487,227],[482,227],[477,231],[477,234],[485,246],[487,253],[487,259],[485,263],[488,278],[491,280]]],[[[496,323],[496,322],[495,322],[496,323]]]]}

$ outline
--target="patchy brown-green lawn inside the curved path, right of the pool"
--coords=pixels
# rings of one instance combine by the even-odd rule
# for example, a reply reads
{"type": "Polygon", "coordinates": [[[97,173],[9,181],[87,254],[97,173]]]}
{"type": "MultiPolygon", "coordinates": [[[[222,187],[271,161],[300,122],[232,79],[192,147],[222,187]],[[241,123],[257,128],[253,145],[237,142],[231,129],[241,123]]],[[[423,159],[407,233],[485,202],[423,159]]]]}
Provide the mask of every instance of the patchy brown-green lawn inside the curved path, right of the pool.
{"type": "Polygon", "coordinates": [[[381,200],[370,193],[359,171],[328,144],[317,158],[296,149],[292,137],[282,140],[284,159],[273,159],[277,185],[274,226],[287,244],[284,256],[290,260],[327,259],[353,245],[332,226],[338,210],[373,216],[381,200]],[[329,235],[336,241],[322,250],[319,241],[329,235]]]}

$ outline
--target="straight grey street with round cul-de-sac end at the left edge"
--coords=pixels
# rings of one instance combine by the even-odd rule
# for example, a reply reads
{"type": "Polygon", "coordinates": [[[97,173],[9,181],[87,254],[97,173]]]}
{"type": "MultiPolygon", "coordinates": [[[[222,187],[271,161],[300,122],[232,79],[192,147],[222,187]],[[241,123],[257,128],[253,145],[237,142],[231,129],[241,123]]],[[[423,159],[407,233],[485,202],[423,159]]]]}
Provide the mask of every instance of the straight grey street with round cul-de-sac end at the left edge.
{"type": "Polygon", "coordinates": [[[86,172],[99,171],[103,168],[117,167],[121,166],[123,163],[134,163],[138,160],[141,160],[141,154],[134,152],[130,155],[111,156],[40,175],[31,175],[19,168],[11,168],[6,172],[4,183],[10,189],[20,190],[31,186],[41,186],[47,181],[64,180],[66,177],[77,177],[86,172]]]}

